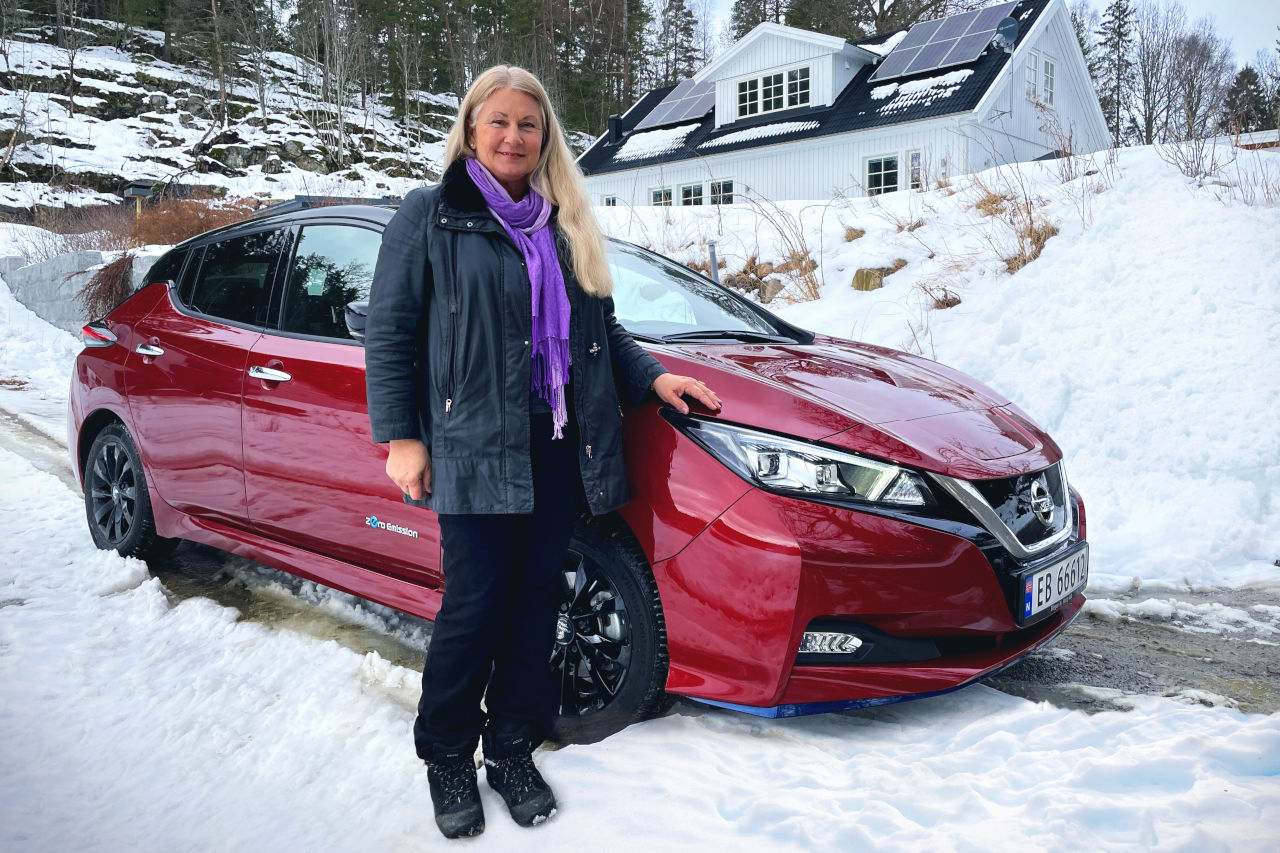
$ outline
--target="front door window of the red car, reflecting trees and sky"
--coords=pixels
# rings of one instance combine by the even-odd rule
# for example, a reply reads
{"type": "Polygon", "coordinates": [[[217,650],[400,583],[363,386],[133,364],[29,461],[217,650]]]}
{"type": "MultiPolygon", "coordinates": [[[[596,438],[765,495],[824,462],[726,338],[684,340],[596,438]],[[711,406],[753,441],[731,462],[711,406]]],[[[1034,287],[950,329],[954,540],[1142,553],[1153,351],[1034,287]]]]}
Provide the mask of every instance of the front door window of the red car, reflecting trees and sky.
{"type": "Polygon", "coordinates": [[[280,329],[351,339],[348,302],[369,298],[381,234],[358,225],[306,225],[280,305],[280,329]]]}

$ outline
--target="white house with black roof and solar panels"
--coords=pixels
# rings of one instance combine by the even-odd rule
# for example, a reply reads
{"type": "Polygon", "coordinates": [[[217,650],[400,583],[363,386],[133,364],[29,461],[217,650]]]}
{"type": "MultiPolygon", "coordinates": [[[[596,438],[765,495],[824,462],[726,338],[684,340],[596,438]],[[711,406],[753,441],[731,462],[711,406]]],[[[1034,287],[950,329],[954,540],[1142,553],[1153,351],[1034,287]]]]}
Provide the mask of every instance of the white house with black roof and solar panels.
{"type": "Polygon", "coordinates": [[[856,44],[760,24],[611,117],[579,164],[595,204],[707,205],[891,192],[1108,143],[1065,1],[1020,0],[856,44]]]}

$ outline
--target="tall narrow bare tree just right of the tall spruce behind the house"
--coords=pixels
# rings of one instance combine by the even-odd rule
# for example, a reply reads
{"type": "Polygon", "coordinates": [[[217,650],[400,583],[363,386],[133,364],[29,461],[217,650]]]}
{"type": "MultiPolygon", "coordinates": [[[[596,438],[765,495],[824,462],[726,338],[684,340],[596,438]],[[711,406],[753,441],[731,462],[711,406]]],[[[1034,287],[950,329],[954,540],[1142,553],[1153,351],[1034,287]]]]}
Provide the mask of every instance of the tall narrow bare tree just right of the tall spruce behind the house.
{"type": "Polygon", "coordinates": [[[1134,90],[1129,122],[1143,145],[1167,136],[1174,96],[1174,55],[1185,35],[1187,10],[1178,0],[1146,0],[1138,6],[1133,38],[1134,90]]]}

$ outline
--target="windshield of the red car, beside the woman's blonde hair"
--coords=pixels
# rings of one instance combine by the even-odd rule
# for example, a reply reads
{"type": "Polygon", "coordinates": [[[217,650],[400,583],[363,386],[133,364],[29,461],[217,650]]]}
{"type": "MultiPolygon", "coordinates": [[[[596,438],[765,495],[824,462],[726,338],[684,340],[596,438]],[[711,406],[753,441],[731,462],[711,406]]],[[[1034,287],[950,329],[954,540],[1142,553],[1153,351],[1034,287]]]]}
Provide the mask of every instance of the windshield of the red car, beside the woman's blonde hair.
{"type": "Polygon", "coordinates": [[[704,333],[741,332],[758,339],[781,333],[724,288],[635,246],[609,242],[609,272],[614,315],[632,334],[691,339],[704,333]]]}

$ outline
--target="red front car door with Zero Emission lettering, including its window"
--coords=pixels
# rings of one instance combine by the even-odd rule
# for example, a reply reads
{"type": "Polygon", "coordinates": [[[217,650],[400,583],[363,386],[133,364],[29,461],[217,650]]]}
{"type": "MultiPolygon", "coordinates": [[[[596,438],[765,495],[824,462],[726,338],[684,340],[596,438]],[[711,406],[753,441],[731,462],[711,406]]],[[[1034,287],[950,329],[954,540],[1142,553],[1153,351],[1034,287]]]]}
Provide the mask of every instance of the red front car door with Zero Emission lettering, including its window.
{"type": "Polygon", "coordinates": [[[387,479],[365,398],[365,350],[348,302],[369,298],[381,232],[305,223],[279,279],[274,330],[244,384],[244,479],[256,529],[417,583],[440,584],[435,514],[387,479]]]}

